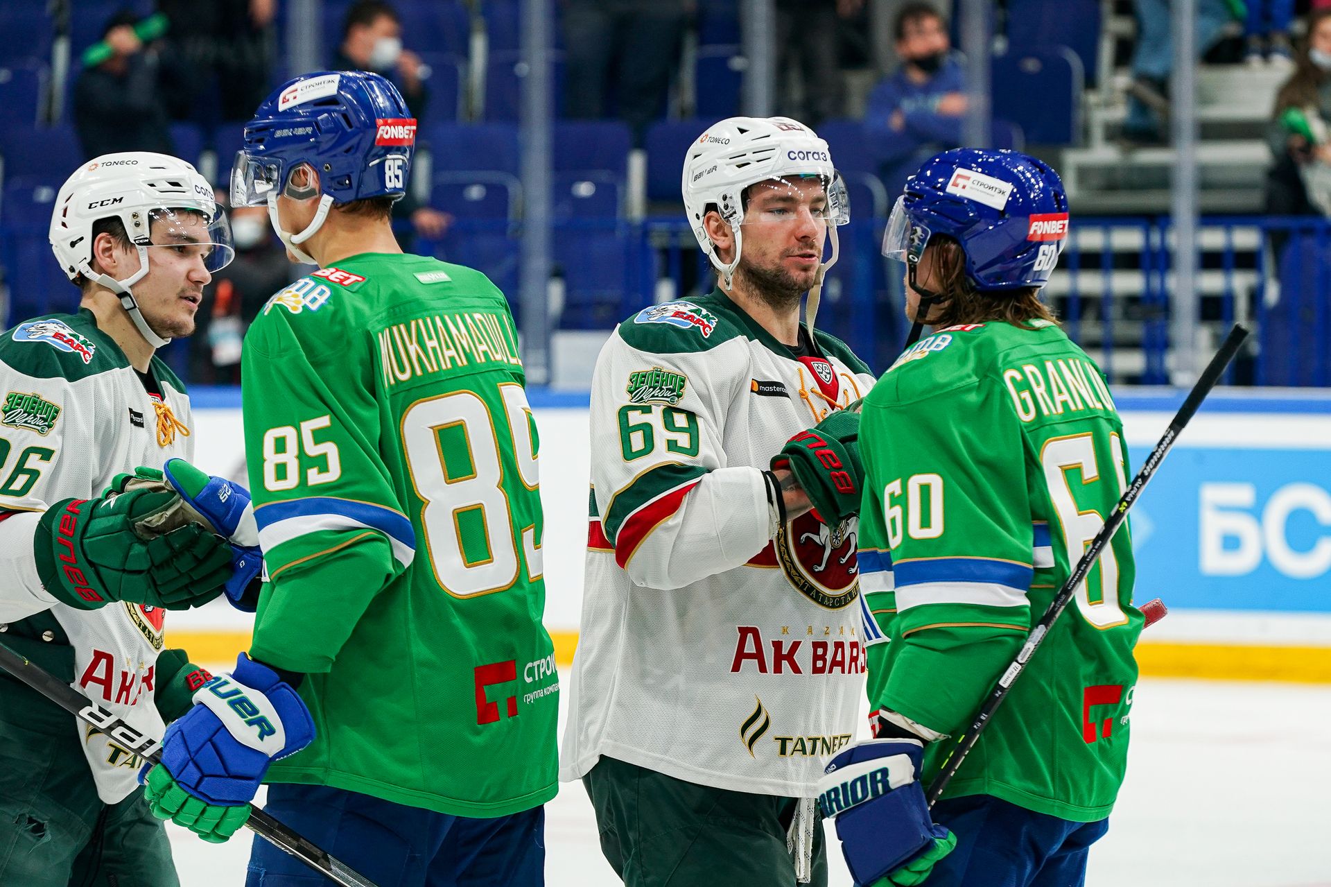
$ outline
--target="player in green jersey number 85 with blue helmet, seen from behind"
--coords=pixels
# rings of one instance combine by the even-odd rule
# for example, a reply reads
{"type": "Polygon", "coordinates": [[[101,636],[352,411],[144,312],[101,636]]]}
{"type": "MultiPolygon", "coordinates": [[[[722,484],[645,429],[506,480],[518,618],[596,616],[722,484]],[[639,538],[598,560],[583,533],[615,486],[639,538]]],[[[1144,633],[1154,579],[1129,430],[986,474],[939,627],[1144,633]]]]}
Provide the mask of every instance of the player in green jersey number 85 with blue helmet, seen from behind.
{"type": "MultiPolygon", "coordinates": [[[[530,887],[556,790],[538,436],[503,294],[394,241],[414,144],[402,96],[362,72],[297,77],[245,127],[233,204],[266,202],[319,266],[245,338],[268,582],[228,679],[268,721],[198,694],[149,791],[225,839],[262,780],[268,810],[381,887],[530,887]]],[[[309,874],[256,843],[249,883],[309,874]]]]}

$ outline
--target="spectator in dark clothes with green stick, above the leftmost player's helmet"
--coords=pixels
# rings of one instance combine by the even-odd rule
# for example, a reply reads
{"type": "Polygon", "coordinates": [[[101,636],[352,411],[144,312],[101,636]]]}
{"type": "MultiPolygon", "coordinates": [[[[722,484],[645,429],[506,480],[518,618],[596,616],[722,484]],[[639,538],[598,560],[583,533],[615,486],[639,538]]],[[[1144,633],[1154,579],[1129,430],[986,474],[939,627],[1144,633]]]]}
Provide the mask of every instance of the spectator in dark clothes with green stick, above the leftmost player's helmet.
{"type": "Polygon", "coordinates": [[[73,117],[88,157],[118,150],[174,153],[157,52],[134,33],[138,16],[117,12],[101,39],[112,55],[75,80],[73,117]]]}

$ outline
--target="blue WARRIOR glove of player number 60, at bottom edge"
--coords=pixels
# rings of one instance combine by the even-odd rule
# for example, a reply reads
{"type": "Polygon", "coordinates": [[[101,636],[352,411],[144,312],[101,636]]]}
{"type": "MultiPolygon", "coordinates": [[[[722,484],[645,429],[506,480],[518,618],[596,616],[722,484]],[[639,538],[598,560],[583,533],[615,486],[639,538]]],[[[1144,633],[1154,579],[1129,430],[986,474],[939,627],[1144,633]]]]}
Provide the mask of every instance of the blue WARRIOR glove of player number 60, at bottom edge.
{"type": "Polygon", "coordinates": [[[924,743],[868,739],[835,756],[819,780],[819,804],[836,818],[856,884],[912,887],[952,852],[957,838],[929,818],[920,784],[924,743]]]}

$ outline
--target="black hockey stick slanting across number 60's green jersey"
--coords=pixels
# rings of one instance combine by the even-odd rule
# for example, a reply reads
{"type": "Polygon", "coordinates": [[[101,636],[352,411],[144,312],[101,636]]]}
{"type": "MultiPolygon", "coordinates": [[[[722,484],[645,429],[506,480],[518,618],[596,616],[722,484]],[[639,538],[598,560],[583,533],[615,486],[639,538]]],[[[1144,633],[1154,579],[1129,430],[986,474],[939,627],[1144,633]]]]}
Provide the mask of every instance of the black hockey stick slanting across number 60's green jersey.
{"type": "Polygon", "coordinates": [[[1234,356],[1238,353],[1243,340],[1247,338],[1247,329],[1235,324],[1234,329],[1230,330],[1230,334],[1225,337],[1221,350],[1218,350],[1215,357],[1211,358],[1211,362],[1207,364],[1206,369],[1202,372],[1202,377],[1197,380],[1197,385],[1193,386],[1193,390],[1187,394],[1187,400],[1183,401],[1183,406],[1178,408],[1178,413],[1175,413],[1173,421],[1170,421],[1165,436],[1158,444],[1155,444],[1155,449],[1151,450],[1151,454],[1146,457],[1142,470],[1133,478],[1127,490],[1123,491],[1122,498],[1118,499],[1118,505],[1114,506],[1114,510],[1109,513],[1105,523],[1099,527],[1099,531],[1095,533],[1095,538],[1093,538],[1090,545],[1086,546],[1086,551],[1077,562],[1071,575],[1069,575],[1067,581],[1058,589],[1058,594],[1054,595],[1049,609],[1045,610],[1045,615],[1042,615],[1040,622],[1036,623],[1036,627],[1030,630],[1030,637],[1028,637],[1026,642],[1021,646],[1021,651],[1017,653],[1017,658],[1013,659],[1012,665],[1004,670],[1002,677],[998,678],[998,683],[996,683],[993,690],[989,691],[984,705],[980,706],[980,713],[976,715],[974,722],[964,734],[961,734],[961,739],[957,740],[957,747],[952,750],[952,755],[942,764],[942,772],[940,772],[934,778],[933,784],[929,786],[930,807],[938,800],[938,796],[942,795],[942,790],[948,787],[952,778],[957,775],[961,762],[965,760],[970,750],[974,748],[976,742],[980,739],[980,734],[984,733],[986,726],[989,726],[994,713],[998,711],[998,706],[1001,706],[1008,698],[1008,693],[1017,682],[1017,678],[1021,677],[1026,663],[1030,662],[1030,657],[1033,657],[1036,650],[1040,649],[1040,643],[1049,635],[1049,630],[1053,627],[1054,621],[1062,614],[1067,602],[1073,599],[1077,586],[1082,583],[1086,574],[1090,573],[1091,566],[1094,566],[1095,561],[1099,558],[1101,551],[1105,550],[1109,541],[1114,538],[1114,533],[1123,525],[1123,521],[1127,519],[1127,509],[1133,507],[1133,503],[1137,502],[1137,497],[1141,495],[1146,483],[1155,475],[1155,470],[1165,459],[1165,454],[1174,446],[1174,441],[1178,440],[1183,426],[1186,426],[1193,418],[1193,414],[1197,413],[1197,408],[1199,408],[1202,401],[1206,400],[1206,396],[1211,393],[1215,382],[1221,378],[1221,373],[1223,373],[1225,368],[1230,365],[1231,360],[1234,360],[1234,356]]]}

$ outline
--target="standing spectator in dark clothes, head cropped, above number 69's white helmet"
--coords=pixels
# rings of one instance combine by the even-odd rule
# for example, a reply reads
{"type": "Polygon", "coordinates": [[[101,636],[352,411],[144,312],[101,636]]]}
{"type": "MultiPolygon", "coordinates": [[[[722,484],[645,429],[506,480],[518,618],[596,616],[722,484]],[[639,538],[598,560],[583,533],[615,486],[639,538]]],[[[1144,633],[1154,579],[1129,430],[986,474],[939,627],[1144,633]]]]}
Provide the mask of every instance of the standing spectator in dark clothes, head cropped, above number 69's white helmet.
{"type": "Polygon", "coordinates": [[[776,0],[776,85],[783,115],[815,129],[843,115],[845,83],[837,19],[849,19],[862,7],[864,0],[776,0]],[[792,95],[789,75],[795,71],[800,72],[803,101],[795,101],[792,95]]]}

